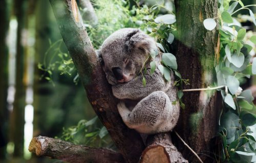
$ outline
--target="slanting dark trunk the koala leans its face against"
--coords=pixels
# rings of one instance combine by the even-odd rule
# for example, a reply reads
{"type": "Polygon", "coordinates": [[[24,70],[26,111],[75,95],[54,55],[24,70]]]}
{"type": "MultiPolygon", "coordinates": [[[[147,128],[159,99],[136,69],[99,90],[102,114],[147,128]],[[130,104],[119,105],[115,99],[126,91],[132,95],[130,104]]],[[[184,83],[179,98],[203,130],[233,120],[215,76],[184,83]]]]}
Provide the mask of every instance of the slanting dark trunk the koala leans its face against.
{"type": "Polygon", "coordinates": [[[127,162],[138,162],[144,149],[138,132],[129,129],[118,114],[110,85],[97,60],[75,1],[50,0],[62,38],[69,49],[95,113],[108,129],[127,162]],[[129,139],[128,139],[129,138],[129,139]]]}

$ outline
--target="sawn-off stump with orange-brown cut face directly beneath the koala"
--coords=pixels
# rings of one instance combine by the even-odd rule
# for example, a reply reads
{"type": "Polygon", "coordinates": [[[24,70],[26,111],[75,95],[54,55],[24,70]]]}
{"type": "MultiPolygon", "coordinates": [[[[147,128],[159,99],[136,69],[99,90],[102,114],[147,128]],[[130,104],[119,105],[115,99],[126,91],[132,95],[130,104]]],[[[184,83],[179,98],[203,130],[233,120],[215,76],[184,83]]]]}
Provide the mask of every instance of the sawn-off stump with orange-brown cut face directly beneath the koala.
{"type": "Polygon", "coordinates": [[[149,135],[143,151],[140,163],[170,162],[187,163],[182,154],[173,145],[169,133],[158,133],[149,135]]]}

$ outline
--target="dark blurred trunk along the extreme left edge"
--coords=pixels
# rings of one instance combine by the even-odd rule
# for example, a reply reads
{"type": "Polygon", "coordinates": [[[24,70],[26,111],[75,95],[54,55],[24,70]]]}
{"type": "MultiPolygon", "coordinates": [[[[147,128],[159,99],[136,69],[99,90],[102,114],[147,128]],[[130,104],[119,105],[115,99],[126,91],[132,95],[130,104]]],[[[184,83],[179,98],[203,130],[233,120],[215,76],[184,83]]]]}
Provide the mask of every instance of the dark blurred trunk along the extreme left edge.
{"type": "Polygon", "coordinates": [[[10,21],[10,2],[4,0],[0,2],[0,158],[5,158],[6,144],[8,142],[8,45],[6,37],[8,34],[10,21]]]}

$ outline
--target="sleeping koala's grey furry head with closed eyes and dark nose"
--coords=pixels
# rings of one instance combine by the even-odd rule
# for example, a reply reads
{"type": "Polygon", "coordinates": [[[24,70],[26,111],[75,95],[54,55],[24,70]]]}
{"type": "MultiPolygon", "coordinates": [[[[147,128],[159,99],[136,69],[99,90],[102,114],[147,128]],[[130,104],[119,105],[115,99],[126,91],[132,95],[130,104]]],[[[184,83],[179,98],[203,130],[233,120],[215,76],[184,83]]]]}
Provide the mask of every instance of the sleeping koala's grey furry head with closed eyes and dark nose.
{"type": "Polygon", "coordinates": [[[138,29],[121,29],[110,35],[98,51],[111,85],[132,80],[141,70],[156,42],[138,29]]]}

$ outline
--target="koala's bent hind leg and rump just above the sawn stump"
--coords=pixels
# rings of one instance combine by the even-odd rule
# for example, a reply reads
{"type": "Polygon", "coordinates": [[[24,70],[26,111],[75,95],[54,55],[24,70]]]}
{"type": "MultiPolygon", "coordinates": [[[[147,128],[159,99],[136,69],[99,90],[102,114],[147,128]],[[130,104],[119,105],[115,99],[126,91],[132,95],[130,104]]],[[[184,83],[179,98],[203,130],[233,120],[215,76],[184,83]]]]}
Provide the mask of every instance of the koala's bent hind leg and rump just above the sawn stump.
{"type": "Polygon", "coordinates": [[[179,117],[179,104],[172,104],[162,91],[156,91],[143,98],[132,112],[124,103],[117,105],[123,122],[140,133],[158,133],[174,128],[179,117]]]}

